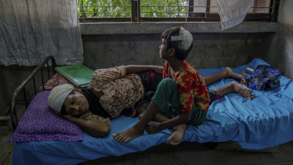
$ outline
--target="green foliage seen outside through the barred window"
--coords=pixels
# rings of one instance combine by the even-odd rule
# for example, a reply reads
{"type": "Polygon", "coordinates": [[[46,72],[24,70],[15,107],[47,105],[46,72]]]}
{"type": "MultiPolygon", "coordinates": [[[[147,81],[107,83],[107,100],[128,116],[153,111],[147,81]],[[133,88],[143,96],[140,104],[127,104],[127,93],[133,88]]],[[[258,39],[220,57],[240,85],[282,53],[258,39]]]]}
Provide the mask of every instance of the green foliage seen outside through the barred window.
{"type": "MultiPolygon", "coordinates": [[[[186,6],[186,0],[141,0],[141,12],[186,12],[186,7],[142,7],[142,6],[186,6]]],[[[84,10],[85,18],[131,17],[130,0],[77,0],[79,17],[84,10]],[[82,2],[84,3],[82,5],[82,2]],[[118,7],[79,7],[79,6],[118,6],[118,7]],[[125,6],[125,7],[121,7],[125,6]],[[107,13],[111,12],[111,13],[107,13]],[[129,12],[129,13],[123,13],[129,12]]],[[[141,13],[140,17],[185,17],[185,13],[141,13]]]]}

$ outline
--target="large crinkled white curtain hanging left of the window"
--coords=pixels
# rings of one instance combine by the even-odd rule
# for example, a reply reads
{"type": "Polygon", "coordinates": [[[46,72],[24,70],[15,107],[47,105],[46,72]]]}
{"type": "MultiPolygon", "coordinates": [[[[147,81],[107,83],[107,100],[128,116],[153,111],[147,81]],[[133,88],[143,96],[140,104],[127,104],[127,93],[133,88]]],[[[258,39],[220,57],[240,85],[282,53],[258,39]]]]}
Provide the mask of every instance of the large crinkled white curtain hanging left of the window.
{"type": "Polygon", "coordinates": [[[0,64],[83,63],[76,0],[0,0],[0,64]]]}

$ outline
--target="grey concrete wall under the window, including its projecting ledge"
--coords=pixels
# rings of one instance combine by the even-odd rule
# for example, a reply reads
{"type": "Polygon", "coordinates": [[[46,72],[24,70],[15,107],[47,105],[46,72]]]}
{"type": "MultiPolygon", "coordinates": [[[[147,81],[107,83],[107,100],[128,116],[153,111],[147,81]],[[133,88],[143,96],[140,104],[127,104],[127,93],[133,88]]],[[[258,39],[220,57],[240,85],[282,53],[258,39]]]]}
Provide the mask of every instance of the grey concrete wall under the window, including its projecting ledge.
{"type": "Polygon", "coordinates": [[[119,65],[163,65],[159,58],[161,34],[182,26],[193,35],[186,59],[195,68],[236,67],[248,56],[260,58],[276,31],[276,23],[241,23],[225,31],[219,23],[107,23],[80,24],[84,62],[93,69],[119,65]],[[264,42],[265,41],[265,42],[264,42]],[[265,44],[265,45],[264,45],[265,44]]]}

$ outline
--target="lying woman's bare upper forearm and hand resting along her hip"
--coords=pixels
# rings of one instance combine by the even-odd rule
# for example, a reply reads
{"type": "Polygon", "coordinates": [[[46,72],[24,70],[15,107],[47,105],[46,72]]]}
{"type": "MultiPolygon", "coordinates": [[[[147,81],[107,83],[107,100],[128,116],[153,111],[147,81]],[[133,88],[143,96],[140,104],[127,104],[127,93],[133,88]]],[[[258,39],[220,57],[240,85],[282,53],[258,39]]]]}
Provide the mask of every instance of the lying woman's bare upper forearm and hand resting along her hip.
{"type": "Polygon", "coordinates": [[[164,67],[163,66],[155,66],[155,65],[127,65],[126,74],[137,74],[143,71],[155,71],[156,73],[163,74],[164,67]]]}

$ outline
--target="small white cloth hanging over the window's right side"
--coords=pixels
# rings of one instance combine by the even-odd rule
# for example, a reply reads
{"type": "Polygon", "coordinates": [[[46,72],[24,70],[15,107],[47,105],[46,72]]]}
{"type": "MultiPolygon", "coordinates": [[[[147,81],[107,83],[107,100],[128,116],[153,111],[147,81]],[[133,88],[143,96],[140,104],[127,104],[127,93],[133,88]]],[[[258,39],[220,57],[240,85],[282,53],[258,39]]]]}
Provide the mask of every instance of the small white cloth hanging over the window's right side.
{"type": "Polygon", "coordinates": [[[255,0],[215,0],[222,30],[241,23],[255,0]]]}

